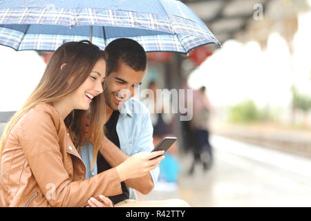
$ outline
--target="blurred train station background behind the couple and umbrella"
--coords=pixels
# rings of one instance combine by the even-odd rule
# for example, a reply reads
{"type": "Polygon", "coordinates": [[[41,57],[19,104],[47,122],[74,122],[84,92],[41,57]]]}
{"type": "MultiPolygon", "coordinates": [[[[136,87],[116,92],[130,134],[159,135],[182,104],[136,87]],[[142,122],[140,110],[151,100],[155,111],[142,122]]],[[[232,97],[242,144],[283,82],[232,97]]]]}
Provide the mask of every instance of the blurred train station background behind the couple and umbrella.
{"type": "MultiPolygon", "coordinates": [[[[151,111],[154,144],[171,135],[178,142],[160,164],[158,184],[139,200],[311,206],[311,1],[182,2],[222,47],[147,53],[141,88],[185,89],[193,117],[151,111]]],[[[0,134],[51,55],[0,46],[0,134]]]]}

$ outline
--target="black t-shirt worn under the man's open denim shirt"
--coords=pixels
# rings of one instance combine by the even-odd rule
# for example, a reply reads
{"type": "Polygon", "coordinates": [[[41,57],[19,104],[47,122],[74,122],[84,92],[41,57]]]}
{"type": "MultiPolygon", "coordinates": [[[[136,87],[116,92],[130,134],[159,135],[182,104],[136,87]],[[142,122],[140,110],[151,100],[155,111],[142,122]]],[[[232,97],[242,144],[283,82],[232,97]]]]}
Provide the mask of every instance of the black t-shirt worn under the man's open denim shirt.
{"type": "MultiPolygon", "coordinates": [[[[118,148],[120,148],[120,141],[119,137],[117,136],[117,119],[120,115],[119,111],[113,111],[110,119],[108,122],[106,122],[106,136],[107,138],[115,144],[118,148]]],[[[111,166],[108,162],[104,159],[104,157],[98,153],[97,155],[97,173],[102,173],[103,171],[106,171],[108,169],[111,169],[111,166]]],[[[122,192],[120,195],[113,195],[110,196],[109,199],[114,203],[121,202],[122,200],[129,199],[129,191],[126,189],[126,186],[124,182],[121,182],[122,192]]]]}

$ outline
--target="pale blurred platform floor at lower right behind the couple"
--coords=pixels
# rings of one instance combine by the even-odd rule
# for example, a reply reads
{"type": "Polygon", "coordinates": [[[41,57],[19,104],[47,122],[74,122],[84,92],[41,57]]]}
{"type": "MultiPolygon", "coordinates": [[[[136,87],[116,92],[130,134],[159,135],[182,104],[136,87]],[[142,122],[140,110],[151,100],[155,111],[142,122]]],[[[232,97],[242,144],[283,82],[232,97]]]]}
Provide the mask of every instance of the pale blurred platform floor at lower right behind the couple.
{"type": "Polygon", "coordinates": [[[196,166],[191,155],[178,157],[178,186],[160,183],[139,200],[180,198],[191,206],[311,206],[311,160],[253,144],[211,136],[214,165],[196,166]]]}

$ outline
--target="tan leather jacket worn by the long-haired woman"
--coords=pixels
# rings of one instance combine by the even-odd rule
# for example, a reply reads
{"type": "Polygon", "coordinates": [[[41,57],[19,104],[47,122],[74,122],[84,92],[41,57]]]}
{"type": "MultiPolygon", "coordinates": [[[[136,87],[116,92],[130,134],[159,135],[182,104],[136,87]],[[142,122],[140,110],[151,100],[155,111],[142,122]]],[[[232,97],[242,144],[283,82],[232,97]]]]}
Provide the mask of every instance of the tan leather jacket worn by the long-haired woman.
{"type": "Polygon", "coordinates": [[[122,193],[115,168],[84,180],[86,168],[59,113],[38,104],[3,146],[0,206],[86,206],[100,194],[122,193]]]}

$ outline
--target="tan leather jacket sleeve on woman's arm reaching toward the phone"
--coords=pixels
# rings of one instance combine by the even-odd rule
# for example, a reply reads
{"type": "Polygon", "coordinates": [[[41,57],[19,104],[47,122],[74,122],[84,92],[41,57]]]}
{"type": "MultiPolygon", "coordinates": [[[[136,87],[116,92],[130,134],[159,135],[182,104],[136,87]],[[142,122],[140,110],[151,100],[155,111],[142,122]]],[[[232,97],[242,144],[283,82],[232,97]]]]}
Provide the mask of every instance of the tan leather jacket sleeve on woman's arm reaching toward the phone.
{"type": "Polygon", "coordinates": [[[23,152],[49,204],[86,206],[91,197],[122,193],[116,169],[109,169],[88,180],[70,182],[59,148],[59,120],[57,122],[57,119],[53,119],[48,111],[32,111],[21,122],[20,142],[23,152]]]}

